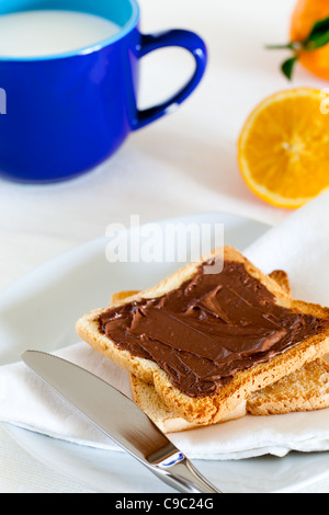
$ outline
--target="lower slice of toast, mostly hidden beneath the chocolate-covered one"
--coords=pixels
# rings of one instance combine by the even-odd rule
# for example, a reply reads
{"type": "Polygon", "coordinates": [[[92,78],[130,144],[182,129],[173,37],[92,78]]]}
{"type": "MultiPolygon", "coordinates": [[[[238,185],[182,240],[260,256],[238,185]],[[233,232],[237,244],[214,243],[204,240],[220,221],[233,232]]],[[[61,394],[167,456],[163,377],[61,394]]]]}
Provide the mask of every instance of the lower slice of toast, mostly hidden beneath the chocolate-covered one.
{"type": "MultiPolygon", "coordinates": [[[[290,296],[292,289],[284,271],[270,274],[290,296]]],[[[136,295],[138,291],[121,291],[112,296],[112,302],[136,295]]],[[[157,424],[163,433],[175,433],[196,427],[170,411],[161,402],[152,385],[147,385],[133,374],[129,377],[133,400],[157,424]]],[[[284,414],[296,411],[313,411],[329,407],[329,365],[324,359],[305,364],[299,370],[283,377],[277,382],[254,392],[241,402],[220,422],[251,415],[284,414]]]]}

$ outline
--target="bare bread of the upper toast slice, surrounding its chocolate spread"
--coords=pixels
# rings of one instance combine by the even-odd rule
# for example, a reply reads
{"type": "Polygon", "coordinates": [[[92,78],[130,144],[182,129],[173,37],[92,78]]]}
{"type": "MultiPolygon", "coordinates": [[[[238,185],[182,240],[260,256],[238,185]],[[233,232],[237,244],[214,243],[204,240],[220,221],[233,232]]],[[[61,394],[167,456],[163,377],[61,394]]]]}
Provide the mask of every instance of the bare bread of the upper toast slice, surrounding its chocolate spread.
{"type": "MultiPolygon", "coordinates": [[[[218,274],[215,278],[220,282],[223,277],[218,274]]],[[[248,320],[245,325],[247,323],[248,320]]],[[[195,425],[208,425],[225,420],[239,404],[247,401],[251,393],[276,382],[282,377],[302,368],[304,364],[325,355],[329,350],[329,310],[318,305],[292,299],[273,278],[254,267],[237,250],[225,247],[202,258],[198,263],[190,263],[149,290],[82,317],[77,322],[77,332],[84,341],[117,365],[127,369],[138,379],[154,385],[167,409],[195,425]],[[177,295],[180,287],[189,282],[193,283],[197,274],[202,281],[206,279],[204,267],[214,260],[216,263],[224,262],[225,276],[230,274],[231,270],[238,270],[239,274],[246,276],[246,281],[239,286],[241,302],[246,304],[245,296],[248,297],[248,285],[252,285],[252,288],[258,291],[258,296],[262,291],[268,298],[266,309],[271,308],[282,312],[282,323],[284,323],[285,317],[291,317],[300,320],[300,327],[304,327],[305,331],[307,328],[307,331],[304,334],[300,330],[297,341],[274,354],[273,357],[272,355],[266,359],[262,357],[257,363],[238,369],[231,374],[227,382],[216,387],[214,392],[195,397],[183,391],[174,382],[174,378],[170,376],[168,369],[166,370],[155,359],[140,357],[124,348],[121,342],[115,342],[103,331],[100,321],[101,317],[107,317],[110,311],[113,314],[115,311],[118,312],[121,308],[127,309],[147,299],[151,299],[154,302],[156,299],[162,299],[166,295],[177,295]]],[[[277,334],[281,332],[279,331],[277,334]]],[[[269,342],[265,343],[268,345],[269,342]]],[[[270,352],[272,353],[272,347],[270,352]]]]}

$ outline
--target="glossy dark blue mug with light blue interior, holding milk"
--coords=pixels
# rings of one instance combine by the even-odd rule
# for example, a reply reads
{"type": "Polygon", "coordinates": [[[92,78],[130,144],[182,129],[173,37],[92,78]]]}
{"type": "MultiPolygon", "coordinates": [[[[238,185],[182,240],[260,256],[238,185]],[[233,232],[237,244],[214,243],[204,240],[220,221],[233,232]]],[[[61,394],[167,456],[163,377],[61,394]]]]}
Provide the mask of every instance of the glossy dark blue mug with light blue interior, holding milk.
{"type": "Polygon", "coordinates": [[[0,174],[22,182],[77,176],[107,159],[131,131],[170,113],[195,89],[206,47],[193,32],[144,35],[136,0],[1,0],[0,15],[29,10],[95,14],[120,25],[114,36],[46,57],[0,56],[0,174]],[[137,108],[139,61],[162,47],[188,49],[195,71],[177,94],[137,108]]]}

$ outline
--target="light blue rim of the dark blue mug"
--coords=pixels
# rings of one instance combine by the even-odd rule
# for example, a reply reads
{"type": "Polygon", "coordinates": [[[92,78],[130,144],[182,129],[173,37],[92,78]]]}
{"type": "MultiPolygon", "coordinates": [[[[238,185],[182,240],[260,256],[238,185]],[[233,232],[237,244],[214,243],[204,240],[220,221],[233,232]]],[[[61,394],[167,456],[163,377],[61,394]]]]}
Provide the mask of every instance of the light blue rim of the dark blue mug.
{"type": "MultiPolygon", "coordinates": [[[[127,34],[129,34],[138,24],[139,21],[139,5],[136,0],[126,0],[132,7],[132,15],[131,19],[121,27],[121,30],[111,37],[105,39],[101,39],[93,45],[88,45],[86,47],[77,48],[76,50],[71,52],[64,52],[59,54],[52,54],[49,56],[31,56],[31,57],[11,57],[0,55],[0,61],[18,61],[18,62],[25,62],[25,61],[47,61],[54,59],[64,59],[68,57],[76,57],[76,56],[83,56],[86,54],[91,54],[93,52],[98,52],[101,48],[106,47],[107,45],[112,45],[113,43],[122,39],[127,34]]],[[[76,11],[84,13],[86,11],[76,11]]],[[[106,20],[105,16],[102,16],[106,20]]],[[[112,20],[110,20],[112,21],[112,20]]]]}

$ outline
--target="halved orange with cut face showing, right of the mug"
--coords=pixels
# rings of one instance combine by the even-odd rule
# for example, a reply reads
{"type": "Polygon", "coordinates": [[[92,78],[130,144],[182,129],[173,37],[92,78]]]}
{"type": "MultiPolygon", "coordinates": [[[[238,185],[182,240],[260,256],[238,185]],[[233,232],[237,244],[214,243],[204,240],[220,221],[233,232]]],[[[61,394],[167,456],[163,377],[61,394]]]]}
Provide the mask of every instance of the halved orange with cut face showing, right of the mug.
{"type": "Polygon", "coordinates": [[[329,96],[299,88],[275,93],[248,117],[239,138],[242,176],[266,203],[296,208],[329,187],[329,96]]]}

